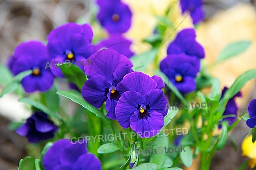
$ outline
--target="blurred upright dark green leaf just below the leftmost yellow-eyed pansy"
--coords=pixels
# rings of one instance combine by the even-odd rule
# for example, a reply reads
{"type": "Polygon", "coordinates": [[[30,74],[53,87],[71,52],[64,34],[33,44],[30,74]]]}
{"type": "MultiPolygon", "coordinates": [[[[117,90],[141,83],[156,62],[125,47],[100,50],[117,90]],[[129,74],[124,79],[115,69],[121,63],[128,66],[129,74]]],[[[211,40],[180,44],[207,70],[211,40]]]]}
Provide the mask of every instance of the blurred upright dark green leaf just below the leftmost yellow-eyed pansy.
{"type": "Polygon", "coordinates": [[[56,94],[57,88],[55,85],[52,86],[47,92],[42,93],[43,103],[51,111],[57,111],[59,107],[59,95],[56,94]]]}

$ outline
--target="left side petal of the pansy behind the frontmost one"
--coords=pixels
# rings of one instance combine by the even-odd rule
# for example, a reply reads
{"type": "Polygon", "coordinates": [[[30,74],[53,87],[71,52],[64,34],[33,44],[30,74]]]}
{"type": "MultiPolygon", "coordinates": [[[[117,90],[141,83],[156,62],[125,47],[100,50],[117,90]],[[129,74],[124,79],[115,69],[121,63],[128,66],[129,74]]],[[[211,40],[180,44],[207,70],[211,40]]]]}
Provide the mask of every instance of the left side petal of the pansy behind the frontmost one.
{"type": "Polygon", "coordinates": [[[96,108],[100,108],[108,97],[110,84],[102,75],[96,75],[84,82],[81,94],[84,99],[96,108]]]}

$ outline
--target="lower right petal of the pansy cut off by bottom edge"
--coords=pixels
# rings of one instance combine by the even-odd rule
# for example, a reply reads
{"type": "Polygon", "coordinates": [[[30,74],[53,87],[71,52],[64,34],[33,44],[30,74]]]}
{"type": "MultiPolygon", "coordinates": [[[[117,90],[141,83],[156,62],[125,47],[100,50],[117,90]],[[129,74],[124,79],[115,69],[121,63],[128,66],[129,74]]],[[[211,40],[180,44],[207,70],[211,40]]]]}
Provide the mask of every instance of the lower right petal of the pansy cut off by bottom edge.
{"type": "Polygon", "coordinates": [[[101,162],[91,153],[84,154],[74,164],[73,170],[101,170],[101,162]]]}

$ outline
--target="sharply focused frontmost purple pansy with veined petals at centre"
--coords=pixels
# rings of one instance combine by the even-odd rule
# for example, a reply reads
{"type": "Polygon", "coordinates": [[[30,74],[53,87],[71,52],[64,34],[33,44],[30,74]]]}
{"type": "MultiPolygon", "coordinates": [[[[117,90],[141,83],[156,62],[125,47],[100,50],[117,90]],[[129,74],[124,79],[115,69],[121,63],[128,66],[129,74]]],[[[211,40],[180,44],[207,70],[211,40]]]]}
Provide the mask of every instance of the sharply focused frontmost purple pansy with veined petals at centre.
{"type": "Polygon", "coordinates": [[[116,119],[124,128],[131,127],[141,137],[152,137],[163,125],[167,99],[157,82],[142,72],[132,72],[116,87],[123,94],[116,105],[116,119]]]}

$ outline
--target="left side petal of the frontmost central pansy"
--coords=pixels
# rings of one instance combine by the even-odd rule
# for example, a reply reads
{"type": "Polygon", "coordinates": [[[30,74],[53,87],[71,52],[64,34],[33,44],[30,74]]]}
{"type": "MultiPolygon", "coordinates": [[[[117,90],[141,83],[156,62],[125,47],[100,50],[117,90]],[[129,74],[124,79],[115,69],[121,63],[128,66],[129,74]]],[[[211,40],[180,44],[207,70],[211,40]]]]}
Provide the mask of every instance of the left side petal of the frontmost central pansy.
{"type": "Polygon", "coordinates": [[[134,111],[139,110],[138,106],[143,102],[142,95],[136,91],[126,91],[117,102],[115,113],[116,119],[124,128],[130,126],[130,117],[134,111]]]}

